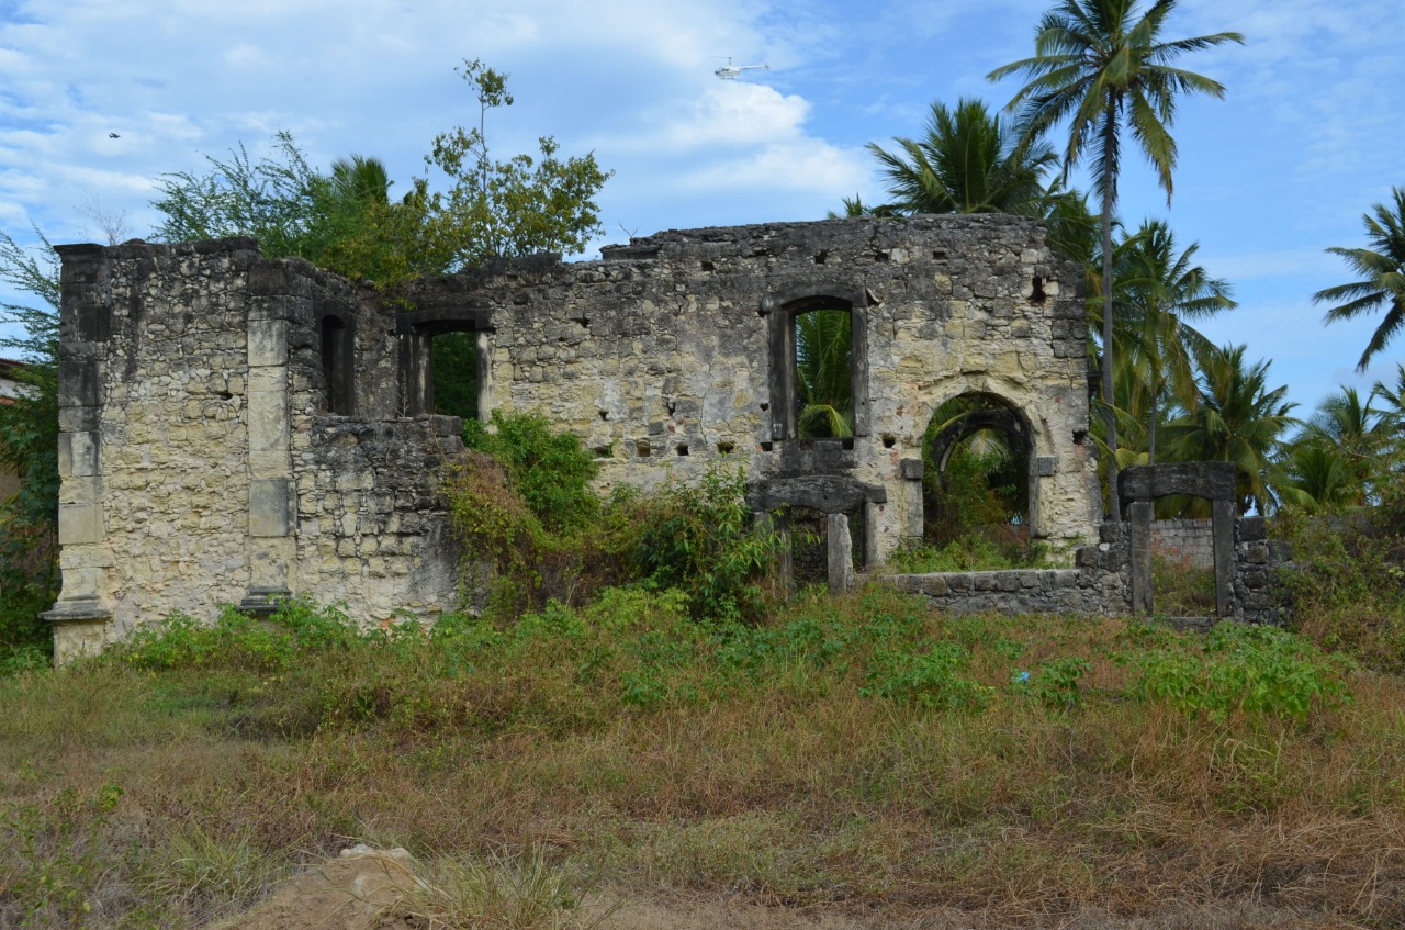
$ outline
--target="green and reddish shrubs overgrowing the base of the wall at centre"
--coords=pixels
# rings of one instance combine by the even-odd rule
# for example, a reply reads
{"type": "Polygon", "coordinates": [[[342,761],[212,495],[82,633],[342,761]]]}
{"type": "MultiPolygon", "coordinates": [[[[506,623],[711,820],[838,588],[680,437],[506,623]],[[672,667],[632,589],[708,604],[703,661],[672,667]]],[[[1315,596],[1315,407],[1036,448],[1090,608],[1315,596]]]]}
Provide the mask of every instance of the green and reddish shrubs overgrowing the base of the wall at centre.
{"type": "Polygon", "coordinates": [[[753,527],[740,469],[600,500],[589,483],[594,461],[575,435],[530,414],[493,412],[492,424],[466,426],[472,450],[450,469],[445,495],[466,548],[465,580],[486,584],[495,617],[551,600],[580,605],[641,580],[684,591],[695,620],[760,615],[778,539],[753,527]]]}

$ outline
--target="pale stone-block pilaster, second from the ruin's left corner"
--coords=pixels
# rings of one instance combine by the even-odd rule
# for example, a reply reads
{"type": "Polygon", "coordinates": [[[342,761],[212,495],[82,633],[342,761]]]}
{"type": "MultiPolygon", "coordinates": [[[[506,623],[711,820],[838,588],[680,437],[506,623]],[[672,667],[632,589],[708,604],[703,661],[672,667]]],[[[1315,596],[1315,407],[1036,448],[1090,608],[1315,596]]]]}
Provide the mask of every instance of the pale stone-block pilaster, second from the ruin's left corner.
{"type": "Polygon", "coordinates": [[[249,593],[239,608],[270,614],[292,590],[296,556],[287,298],[254,295],[249,312],[249,593]]]}

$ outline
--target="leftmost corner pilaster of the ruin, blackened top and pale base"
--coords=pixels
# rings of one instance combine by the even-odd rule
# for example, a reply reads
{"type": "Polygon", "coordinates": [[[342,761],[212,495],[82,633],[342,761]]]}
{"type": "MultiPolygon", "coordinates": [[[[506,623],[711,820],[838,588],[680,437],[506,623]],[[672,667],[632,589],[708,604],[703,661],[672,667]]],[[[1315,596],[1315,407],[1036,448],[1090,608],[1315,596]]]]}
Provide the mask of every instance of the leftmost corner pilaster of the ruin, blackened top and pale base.
{"type": "Polygon", "coordinates": [[[59,308],[59,569],[63,587],[53,608],[53,662],[63,664],[101,648],[112,621],[103,500],[103,376],[112,310],[105,295],[101,246],[59,246],[63,301],[59,308]]]}

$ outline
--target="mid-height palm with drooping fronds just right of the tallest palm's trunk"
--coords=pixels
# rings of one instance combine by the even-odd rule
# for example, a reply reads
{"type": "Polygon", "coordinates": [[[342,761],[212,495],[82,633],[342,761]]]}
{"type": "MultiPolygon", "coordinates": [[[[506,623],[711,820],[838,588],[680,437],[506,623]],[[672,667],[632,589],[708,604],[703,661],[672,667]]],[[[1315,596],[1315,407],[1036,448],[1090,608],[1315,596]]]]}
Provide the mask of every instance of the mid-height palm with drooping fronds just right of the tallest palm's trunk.
{"type": "Polygon", "coordinates": [[[1116,249],[1114,295],[1127,308],[1113,322],[1113,344],[1132,351],[1148,386],[1146,462],[1156,462],[1156,420],[1162,395],[1169,391],[1186,406],[1194,405],[1194,357],[1210,341],[1186,319],[1207,319],[1235,306],[1231,288],[1193,264],[1200,243],[1176,251],[1176,236],[1162,221],[1144,221],[1141,229],[1116,249]]]}

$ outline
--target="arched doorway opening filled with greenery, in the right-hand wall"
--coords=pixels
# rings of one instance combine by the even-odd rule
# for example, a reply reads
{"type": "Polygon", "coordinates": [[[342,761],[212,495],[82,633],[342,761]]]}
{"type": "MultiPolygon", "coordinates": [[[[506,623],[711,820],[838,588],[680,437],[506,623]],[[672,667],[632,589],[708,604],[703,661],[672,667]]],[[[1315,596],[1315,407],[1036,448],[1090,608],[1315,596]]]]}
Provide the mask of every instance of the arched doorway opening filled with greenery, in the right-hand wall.
{"type": "Polygon", "coordinates": [[[1031,461],[1028,423],[1003,399],[971,392],[939,406],[923,435],[923,542],[1027,549],[1031,461]]]}

